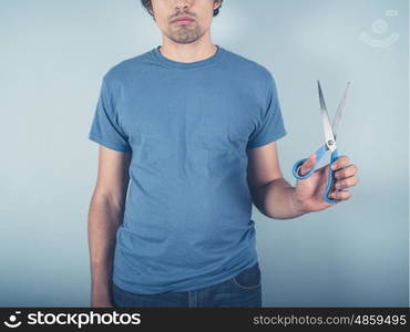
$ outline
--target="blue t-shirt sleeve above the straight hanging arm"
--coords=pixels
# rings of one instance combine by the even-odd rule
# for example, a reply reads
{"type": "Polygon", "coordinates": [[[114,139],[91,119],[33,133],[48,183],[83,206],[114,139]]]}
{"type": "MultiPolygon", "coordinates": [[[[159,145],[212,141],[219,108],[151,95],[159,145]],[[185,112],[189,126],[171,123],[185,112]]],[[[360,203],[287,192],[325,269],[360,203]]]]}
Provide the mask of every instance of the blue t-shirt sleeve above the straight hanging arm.
{"type": "Polygon", "coordinates": [[[119,124],[115,104],[113,91],[104,76],[89,138],[111,149],[130,153],[132,149],[119,124]]]}

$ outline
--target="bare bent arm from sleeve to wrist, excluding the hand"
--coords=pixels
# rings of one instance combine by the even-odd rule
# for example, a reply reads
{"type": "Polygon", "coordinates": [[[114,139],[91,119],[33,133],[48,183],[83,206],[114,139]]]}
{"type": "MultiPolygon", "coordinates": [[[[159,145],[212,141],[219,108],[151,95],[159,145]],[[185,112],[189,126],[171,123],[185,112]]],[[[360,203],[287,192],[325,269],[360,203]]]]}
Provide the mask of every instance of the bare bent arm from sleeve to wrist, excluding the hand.
{"type": "Polygon", "coordinates": [[[295,187],[280,172],[276,142],[248,151],[247,176],[254,205],[265,216],[289,219],[305,214],[295,200],[295,187]]]}

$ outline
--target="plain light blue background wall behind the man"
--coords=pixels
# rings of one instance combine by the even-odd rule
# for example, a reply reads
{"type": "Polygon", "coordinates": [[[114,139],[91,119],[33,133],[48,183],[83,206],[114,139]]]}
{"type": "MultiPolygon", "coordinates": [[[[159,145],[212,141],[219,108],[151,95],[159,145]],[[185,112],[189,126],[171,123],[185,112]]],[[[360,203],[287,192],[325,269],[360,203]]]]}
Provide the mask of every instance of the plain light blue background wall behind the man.
{"type": "MultiPolygon", "coordinates": [[[[338,135],[359,167],[351,199],[288,220],[254,208],[265,307],[409,305],[408,12],[406,0],[225,0],[214,20],[215,43],[276,79],[291,184],[293,163],[322,143],[316,80],[331,116],[352,83],[338,135]],[[377,49],[365,31],[400,38],[377,49]]],[[[100,80],[161,32],[140,1],[1,0],[0,41],[0,305],[88,307],[100,80]]]]}

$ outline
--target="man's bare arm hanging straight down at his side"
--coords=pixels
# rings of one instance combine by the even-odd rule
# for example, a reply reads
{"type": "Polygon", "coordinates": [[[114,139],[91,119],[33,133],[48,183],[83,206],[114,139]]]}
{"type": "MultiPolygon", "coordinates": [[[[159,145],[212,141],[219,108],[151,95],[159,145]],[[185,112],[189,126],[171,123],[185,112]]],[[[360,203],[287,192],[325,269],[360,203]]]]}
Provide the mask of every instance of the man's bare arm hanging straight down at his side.
{"type": "Polygon", "coordinates": [[[130,153],[100,145],[98,179],[89,210],[91,307],[112,307],[115,235],[122,224],[130,153]]]}

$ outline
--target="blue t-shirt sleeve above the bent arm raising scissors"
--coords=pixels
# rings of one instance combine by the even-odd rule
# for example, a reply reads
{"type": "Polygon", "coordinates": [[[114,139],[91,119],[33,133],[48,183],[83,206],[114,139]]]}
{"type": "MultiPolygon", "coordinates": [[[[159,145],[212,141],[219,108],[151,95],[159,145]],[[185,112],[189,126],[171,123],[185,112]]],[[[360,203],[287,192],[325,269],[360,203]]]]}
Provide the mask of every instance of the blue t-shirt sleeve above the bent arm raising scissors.
{"type": "Polygon", "coordinates": [[[266,106],[259,124],[249,136],[247,148],[259,147],[275,142],[287,134],[284,126],[275,80],[270,73],[268,74],[267,84],[266,106]]]}

